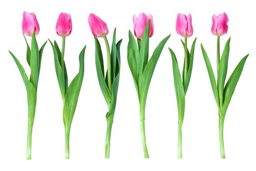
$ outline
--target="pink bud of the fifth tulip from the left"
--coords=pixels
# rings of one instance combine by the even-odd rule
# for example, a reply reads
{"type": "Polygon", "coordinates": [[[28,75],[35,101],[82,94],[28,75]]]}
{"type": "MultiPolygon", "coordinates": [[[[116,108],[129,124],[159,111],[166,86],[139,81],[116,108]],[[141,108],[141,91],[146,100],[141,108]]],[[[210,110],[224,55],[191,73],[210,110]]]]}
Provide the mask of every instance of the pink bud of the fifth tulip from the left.
{"type": "Polygon", "coordinates": [[[176,20],[176,31],[179,36],[187,38],[193,35],[193,27],[191,22],[191,14],[188,14],[187,16],[184,14],[178,14],[176,20]]]}

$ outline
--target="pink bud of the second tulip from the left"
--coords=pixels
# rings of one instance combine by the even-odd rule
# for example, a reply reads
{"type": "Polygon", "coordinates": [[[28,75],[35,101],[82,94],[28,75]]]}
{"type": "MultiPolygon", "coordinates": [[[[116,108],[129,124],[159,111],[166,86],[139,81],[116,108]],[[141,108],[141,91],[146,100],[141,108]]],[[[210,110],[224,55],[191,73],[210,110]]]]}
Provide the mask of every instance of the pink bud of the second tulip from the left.
{"type": "Polygon", "coordinates": [[[61,37],[67,37],[72,32],[71,15],[67,13],[60,13],[56,23],[56,33],[61,37]]]}

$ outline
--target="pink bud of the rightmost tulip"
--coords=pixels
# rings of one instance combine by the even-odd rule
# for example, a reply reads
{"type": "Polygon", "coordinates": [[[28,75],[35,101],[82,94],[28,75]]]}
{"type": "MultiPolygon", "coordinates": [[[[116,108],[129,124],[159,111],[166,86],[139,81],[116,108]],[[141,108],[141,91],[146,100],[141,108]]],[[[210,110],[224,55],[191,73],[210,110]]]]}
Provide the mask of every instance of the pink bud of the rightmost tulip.
{"type": "Polygon", "coordinates": [[[229,18],[227,14],[224,12],[217,17],[215,14],[212,16],[212,26],[211,26],[211,32],[215,36],[223,36],[228,32],[228,23],[229,18]]]}

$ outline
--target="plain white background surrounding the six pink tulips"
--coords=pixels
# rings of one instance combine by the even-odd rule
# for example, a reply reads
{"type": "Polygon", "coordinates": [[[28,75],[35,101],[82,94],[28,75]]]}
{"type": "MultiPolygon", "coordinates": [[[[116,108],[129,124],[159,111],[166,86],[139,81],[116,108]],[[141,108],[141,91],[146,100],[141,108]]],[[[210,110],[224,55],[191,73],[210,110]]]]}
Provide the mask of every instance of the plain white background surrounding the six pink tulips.
{"type": "MultiPolygon", "coordinates": [[[[253,2],[253,1],[252,1],[253,2]]],[[[139,0],[17,0],[0,5],[0,170],[26,171],[255,171],[255,5],[249,0],[139,1],[139,0]],[[62,100],[57,83],[50,43],[47,43],[41,65],[38,100],[32,136],[32,160],[26,161],[27,101],[26,89],[11,50],[24,65],[27,75],[26,43],[22,35],[23,11],[34,12],[40,24],[37,36],[41,46],[47,38],[61,45],[55,33],[60,12],[70,13],[73,32],[66,38],[65,61],[69,81],[78,71],[78,54],[86,44],[85,73],[74,116],[70,157],[65,159],[62,100]],[[95,46],[87,17],[93,12],[108,25],[112,42],[114,27],[121,45],[121,75],[118,100],[111,135],[110,159],[104,159],[107,105],[102,96],[95,67],[95,46]],[[146,137],[150,159],[144,159],[139,122],[139,103],[127,63],[128,30],[133,29],[132,16],[140,12],[154,17],[154,36],[150,54],[168,34],[156,65],[146,105],[146,137]],[[212,15],[226,12],[228,34],[221,37],[221,51],[231,36],[228,77],[247,53],[250,56],[233,94],[224,127],[226,159],[220,159],[218,110],[210,86],[200,43],[216,73],[216,37],[211,33],[212,15]],[[178,13],[192,15],[197,37],[194,67],[186,94],[183,124],[183,159],[177,159],[178,113],[173,84],[171,47],[183,65],[183,49],[175,30],[178,13]]],[[[30,38],[28,38],[30,42],[30,38]]],[[[106,62],[103,40],[102,50],[106,62]]]]}

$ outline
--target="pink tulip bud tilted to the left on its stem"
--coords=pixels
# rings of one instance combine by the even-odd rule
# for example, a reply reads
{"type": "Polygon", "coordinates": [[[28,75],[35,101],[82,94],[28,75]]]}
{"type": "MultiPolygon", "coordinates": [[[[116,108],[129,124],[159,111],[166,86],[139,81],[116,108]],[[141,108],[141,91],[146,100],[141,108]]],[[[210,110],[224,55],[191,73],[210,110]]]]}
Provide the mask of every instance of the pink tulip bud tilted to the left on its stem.
{"type": "Polygon", "coordinates": [[[108,34],[106,23],[95,14],[89,15],[88,23],[94,37],[102,38],[108,34]]]}

